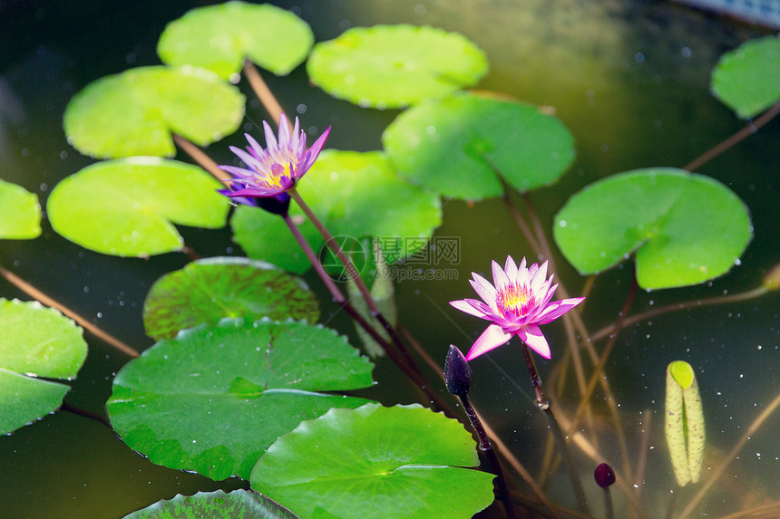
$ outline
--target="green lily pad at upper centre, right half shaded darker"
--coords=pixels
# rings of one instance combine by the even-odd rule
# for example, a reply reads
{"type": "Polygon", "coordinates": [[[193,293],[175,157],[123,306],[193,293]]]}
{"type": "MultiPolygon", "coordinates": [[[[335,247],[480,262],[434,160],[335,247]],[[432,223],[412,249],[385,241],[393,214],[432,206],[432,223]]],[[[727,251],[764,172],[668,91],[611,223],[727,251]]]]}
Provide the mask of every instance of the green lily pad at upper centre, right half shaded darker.
{"type": "Polygon", "coordinates": [[[525,192],[551,185],[574,160],[574,138],[561,120],[531,105],[466,93],[405,111],[382,141],[411,182],[470,200],[502,194],[496,171],[525,192]]]}

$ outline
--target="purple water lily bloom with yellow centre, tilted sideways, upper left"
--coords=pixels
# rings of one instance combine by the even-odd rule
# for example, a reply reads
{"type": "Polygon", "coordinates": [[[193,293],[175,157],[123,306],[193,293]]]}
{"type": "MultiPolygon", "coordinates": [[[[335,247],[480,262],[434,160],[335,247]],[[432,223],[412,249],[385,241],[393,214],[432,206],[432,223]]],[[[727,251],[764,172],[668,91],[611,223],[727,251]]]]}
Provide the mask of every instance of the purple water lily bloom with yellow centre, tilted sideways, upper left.
{"type": "Polygon", "coordinates": [[[266,132],[267,148],[263,149],[258,141],[249,133],[244,137],[249,141],[247,151],[231,146],[230,150],[239,156],[248,168],[236,166],[219,166],[233,176],[229,180],[229,189],[220,193],[228,197],[265,198],[274,197],[294,187],[297,180],[303,177],[319,152],[325,145],[330,133],[330,127],[317,139],[311,148],[306,149],[306,132],[299,129],[300,123],[295,119],[295,128],[290,133],[289,120],[285,114],[279,118],[279,138],[263,121],[266,132]]]}

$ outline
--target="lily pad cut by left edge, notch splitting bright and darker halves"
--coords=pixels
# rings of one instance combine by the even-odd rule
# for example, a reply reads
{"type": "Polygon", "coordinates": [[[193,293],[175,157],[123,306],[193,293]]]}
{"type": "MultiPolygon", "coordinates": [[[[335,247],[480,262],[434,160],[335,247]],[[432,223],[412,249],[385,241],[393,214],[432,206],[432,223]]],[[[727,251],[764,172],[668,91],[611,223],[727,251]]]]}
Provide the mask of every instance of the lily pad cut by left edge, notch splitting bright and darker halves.
{"type": "Polygon", "coordinates": [[[82,329],[42,304],[0,298],[0,434],[59,408],[87,356],[82,329]]]}

